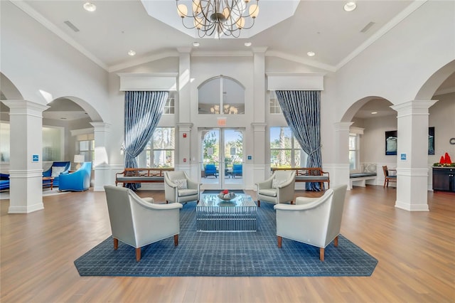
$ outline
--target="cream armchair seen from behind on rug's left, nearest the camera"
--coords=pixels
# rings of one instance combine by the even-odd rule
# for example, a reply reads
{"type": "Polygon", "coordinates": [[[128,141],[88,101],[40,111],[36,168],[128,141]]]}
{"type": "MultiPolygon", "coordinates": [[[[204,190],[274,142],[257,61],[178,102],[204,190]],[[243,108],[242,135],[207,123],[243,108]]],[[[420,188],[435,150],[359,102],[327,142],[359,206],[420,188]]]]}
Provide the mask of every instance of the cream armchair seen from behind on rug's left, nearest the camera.
{"type": "Polygon", "coordinates": [[[154,204],[153,198],[140,198],[126,187],[107,185],[105,191],[114,250],[120,240],[136,248],[139,261],[142,246],[172,236],[174,245],[178,245],[180,203],[154,204]]]}

